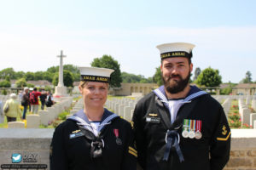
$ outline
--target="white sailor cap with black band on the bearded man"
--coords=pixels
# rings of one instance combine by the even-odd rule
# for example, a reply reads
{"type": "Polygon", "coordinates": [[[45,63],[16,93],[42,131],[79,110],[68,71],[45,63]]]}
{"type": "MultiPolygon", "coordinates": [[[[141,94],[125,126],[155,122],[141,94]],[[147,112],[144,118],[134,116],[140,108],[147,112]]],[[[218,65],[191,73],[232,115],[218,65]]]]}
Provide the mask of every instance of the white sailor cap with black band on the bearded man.
{"type": "Polygon", "coordinates": [[[171,57],[187,57],[192,58],[192,49],[195,45],[186,42],[173,42],[164,43],[156,46],[160,50],[161,59],[171,58],[171,57]]]}

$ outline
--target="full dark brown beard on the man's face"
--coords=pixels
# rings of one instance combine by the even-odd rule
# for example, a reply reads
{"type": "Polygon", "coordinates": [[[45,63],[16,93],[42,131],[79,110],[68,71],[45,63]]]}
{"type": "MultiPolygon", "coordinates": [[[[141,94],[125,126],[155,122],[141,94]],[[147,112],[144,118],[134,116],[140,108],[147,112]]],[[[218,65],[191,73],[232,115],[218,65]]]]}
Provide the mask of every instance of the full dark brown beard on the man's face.
{"type": "Polygon", "coordinates": [[[190,71],[187,77],[184,79],[180,75],[174,75],[172,74],[170,77],[163,77],[163,82],[166,88],[166,91],[170,94],[177,94],[179,92],[182,92],[184,88],[187,87],[189,84],[190,79],[190,71]],[[172,80],[173,77],[178,77],[180,80],[172,80]]]}

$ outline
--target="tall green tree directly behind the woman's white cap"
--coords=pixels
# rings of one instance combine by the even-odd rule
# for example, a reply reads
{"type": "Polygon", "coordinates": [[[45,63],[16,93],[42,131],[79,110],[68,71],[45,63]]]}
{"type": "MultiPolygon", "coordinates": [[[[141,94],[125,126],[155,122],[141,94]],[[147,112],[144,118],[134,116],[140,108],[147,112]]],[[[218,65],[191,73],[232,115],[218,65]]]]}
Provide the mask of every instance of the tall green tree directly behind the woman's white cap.
{"type": "Polygon", "coordinates": [[[111,87],[120,87],[122,82],[120,65],[117,60],[114,60],[111,55],[103,55],[102,58],[93,59],[90,64],[94,67],[102,67],[113,69],[113,73],[111,74],[110,86],[111,87]]]}

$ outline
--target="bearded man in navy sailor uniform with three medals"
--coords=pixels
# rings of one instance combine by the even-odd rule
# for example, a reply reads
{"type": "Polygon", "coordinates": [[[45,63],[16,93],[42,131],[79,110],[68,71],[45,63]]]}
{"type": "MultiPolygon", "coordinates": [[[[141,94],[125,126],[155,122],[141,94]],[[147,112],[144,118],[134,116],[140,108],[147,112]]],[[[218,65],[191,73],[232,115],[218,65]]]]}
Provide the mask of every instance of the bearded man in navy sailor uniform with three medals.
{"type": "Polygon", "coordinates": [[[141,99],[131,124],[144,170],[220,170],[230,158],[230,127],[222,106],[189,84],[191,43],[157,46],[163,86],[141,99]]]}

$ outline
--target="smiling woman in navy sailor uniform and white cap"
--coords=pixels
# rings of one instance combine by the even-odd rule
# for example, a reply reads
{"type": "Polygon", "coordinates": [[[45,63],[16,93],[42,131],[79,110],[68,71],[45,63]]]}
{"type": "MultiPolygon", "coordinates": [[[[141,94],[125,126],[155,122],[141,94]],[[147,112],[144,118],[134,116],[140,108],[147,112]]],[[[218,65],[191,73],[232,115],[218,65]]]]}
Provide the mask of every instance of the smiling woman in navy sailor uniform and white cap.
{"type": "Polygon", "coordinates": [[[55,128],[51,170],[135,170],[131,124],[103,108],[111,69],[80,67],[84,110],[55,128]]]}

